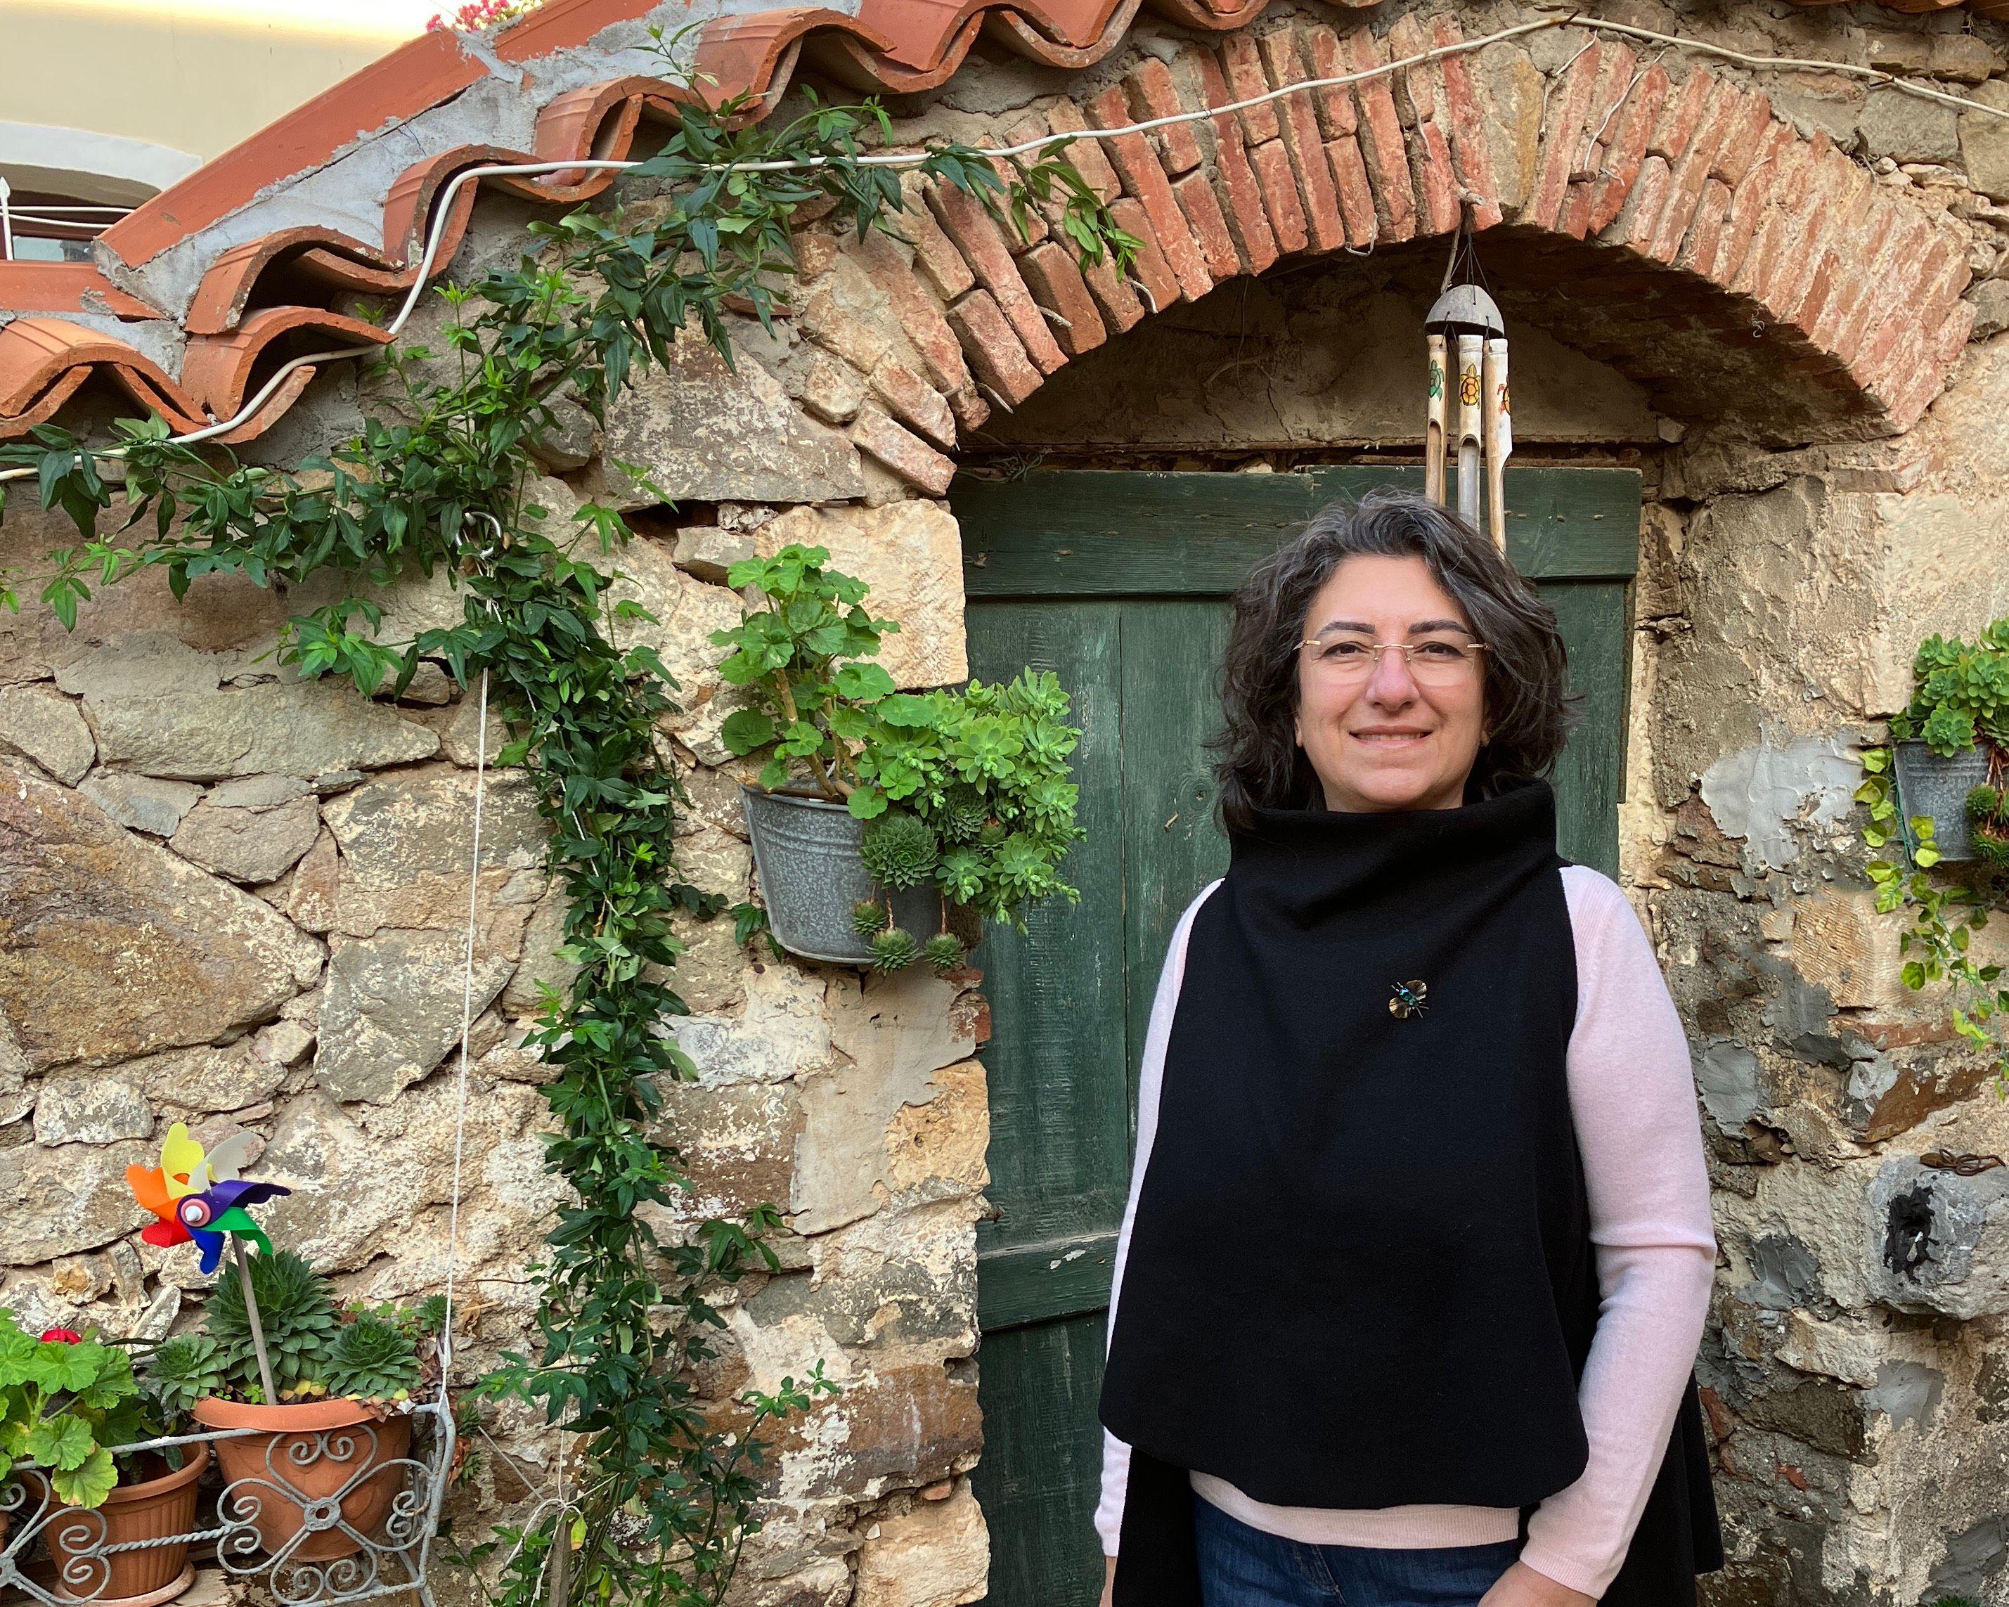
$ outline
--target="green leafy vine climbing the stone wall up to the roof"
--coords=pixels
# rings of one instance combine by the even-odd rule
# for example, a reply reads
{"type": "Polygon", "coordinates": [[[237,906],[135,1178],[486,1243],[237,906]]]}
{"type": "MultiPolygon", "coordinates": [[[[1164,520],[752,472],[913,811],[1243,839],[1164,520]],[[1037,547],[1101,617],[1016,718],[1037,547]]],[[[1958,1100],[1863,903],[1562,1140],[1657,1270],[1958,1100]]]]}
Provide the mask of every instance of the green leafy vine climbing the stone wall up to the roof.
{"type": "MultiPolygon", "coordinates": [[[[673,62],[677,40],[657,42],[673,62]]],[[[784,305],[798,209],[834,203],[862,239],[898,231],[904,201],[898,171],[864,161],[890,133],[876,102],[812,98],[763,127],[747,98],[707,110],[687,76],[683,86],[693,104],[635,169],[655,191],[647,217],[581,209],[532,223],[534,253],[440,287],[444,350],[392,348],[380,378],[396,406],[340,450],[295,468],[247,464],[177,442],[157,416],[121,422],[108,448],[60,426],[0,446],[0,466],[32,468],[40,504],[78,528],[34,583],[64,627],[96,589],[149,568],[175,597],[205,575],[275,587],[338,570],[348,595],[287,625],[283,663],[344,675],[364,695],[406,691],[426,663],[462,689],[486,677],[510,727],[496,761],[522,767],[550,828],[561,956],[577,966],[563,990],[542,988],[528,1037],[550,1069],[544,1165],[573,1197],[538,1268],[534,1354],[506,1358],[480,1388],[540,1404],[573,1452],[561,1503],[466,1553],[500,1559],[488,1573],[502,1607],[717,1603],[757,1529],[759,1430],[838,1388],[818,1362],[775,1392],[745,1390],[727,1422],[693,1382],[723,1326],[711,1296],[779,1266],[765,1241],[779,1213],[761,1203],[743,1219],[659,1225],[689,1187],[661,1137],[663,1083],[695,1077],[665,1030],[687,1006],[663,976],[681,952],[675,920],[715,916],[723,900],[677,868],[687,797],[661,735],[677,687],[649,647],[623,645],[647,615],[613,601],[619,577],[603,566],[629,528],[599,504],[556,528],[534,502],[532,446],[567,404],[605,422],[685,331],[731,364],[727,311],[771,327],[784,305]],[[100,470],[106,456],[123,462],[117,480],[100,470]],[[386,641],[372,589],[434,575],[458,589],[462,619],[386,641]]],[[[1043,211],[1087,261],[1127,269],[1137,249],[1059,151],[1000,173],[968,147],[934,145],[914,167],[1021,235],[1043,211]]]]}

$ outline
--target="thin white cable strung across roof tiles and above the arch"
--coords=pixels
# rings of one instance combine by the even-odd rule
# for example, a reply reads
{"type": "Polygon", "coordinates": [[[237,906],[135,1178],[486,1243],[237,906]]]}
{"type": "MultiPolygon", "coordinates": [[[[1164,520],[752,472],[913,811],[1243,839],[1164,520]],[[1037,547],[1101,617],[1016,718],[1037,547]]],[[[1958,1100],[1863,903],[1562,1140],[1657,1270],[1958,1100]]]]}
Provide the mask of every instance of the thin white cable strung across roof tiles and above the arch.
{"type": "MultiPolygon", "coordinates": [[[[1252,106],[1268,104],[1272,100],[1282,100],[1286,94],[1302,94],[1304,90],[1314,90],[1314,88],[1344,88],[1348,84],[1366,82],[1370,78],[1384,78],[1392,72],[1402,72],[1410,66],[1422,66],[1426,62],[1442,60],[1446,56],[1471,54],[1475,50],[1485,50],[1489,44],[1501,44],[1505,40],[1521,38],[1525,34],[1545,32],[1549,28],[1583,28],[1585,32],[1593,34],[1617,34],[1621,38],[1635,38],[1635,40],[1645,40],[1649,44],[1665,44],[1680,50],[1694,50],[1704,56],[1718,56],[1722,60],[1730,60],[1754,70],[1840,72],[1854,78],[1868,78],[1878,84],[1886,84],[1888,88],[1903,90],[1905,94],[1917,94],[1925,100],[1937,100],[1947,106],[1959,106],[1961,110],[1975,110],[1975,112],[1987,112],[1989,117],[2009,119],[2009,110],[2005,110],[2003,106],[1989,106],[1983,100],[1971,100],[1963,94],[1947,94],[1945,90],[1927,88],[1925,84],[1915,84],[1909,78],[1899,78],[1894,72],[1884,72],[1882,68],[1876,66],[1856,66],[1854,62],[1830,62],[1812,56],[1758,56],[1746,50],[1732,50],[1726,44],[1710,44],[1708,40],[1682,38],[1678,34],[1659,34],[1653,32],[1651,28],[1635,28],[1627,22],[1605,22],[1603,18],[1585,18],[1569,14],[1569,16],[1543,16],[1535,18],[1533,22],[1519,22],[1511,28],[1501,28],[1499,32],[1493,34],[1457,40],[1455,44],[1436,44],[1430,46],[1428,50],[1418,50],[1412,56],[1400,56],[1396,60],[1376,62],[1374,66],[1362,68],[1360,72],[1342,72],[1332,78],[1306,78],[1296,84],[1284,84],[1282,88],[1272,88],[1264,94],[1252,94],[1244,100],[1230,100],[1227,104],[1221,106],[1207,106],[1203,110],[1191,110],[1191,112],[1171,112],[1167,117],[1151,117],[1145,119],[1143,123],[1125,123],[1119,129],[1075,129],[1059,135],[1041,135],[1039,139],[1021,141],[1019,145],[980,147],[976,155],[992,159],[1025,157],[1035,151],[1045,151],[1049,145],[1071,145],[1079,139],[1095,139],[1095,141],[1125,139],[1129,135],[1143,135],[1153,129],[1165,129],[1175,123],[1205,123],[1215,117],[1227,117],[1230,112],[1240,112],[1252,106]]],[[[852,161],[856,161],[860,167],[916,167],[928,161],[928,153],[886,151],[866,157],[854,157],[852,161]]],[[[392,339],[396,339],[396,335],[404,329],[406,321],[412,317],[412,311],[418,307],[418,299],[426,291],[426,285],[432,277],[432,269],[438,261],[440,243],[446,237],[446,225],[454,215],[454,199],[460,195],[460,189],[464,185],[478,183],[480,179],[534,177],[544,173],[623,173],[627,169],[641,165],[643,163],[639,161],[607,161],[607,159],[583,157],[577,161],[554,161],[554,163],[486,163],[482,167],[460,169],[452,179],[446,181],[446,187],[440,191],[438,205],[434,207],[432,213],[432,225],[426,231],[426,249],[420,255],[418,271],[412,277],[412,287],[406,291],[398,315],[388,325],[384,325],[386,333],[392,339]]],[[[830,165],[828,157],[812,157],[808,161],[717,163],[705,171],[802,173],[828,165],[830,165]]],[[[0,181],[0,185],[4,185],[4,181],[0,181]]],[[[4,197],[0,197],[0,203],[4,203],[4,197]]],[[[225,436],[231,430],[243,426],[247,420],[255,418],[259,410],[277,394],[281,384],[285,384],[285,378],[295,370],[309,368],[315,364],[342,362],[348,358],[368,358],[380,350],[382,350],[380,343],[344,346],[333,352],[315,352],[305,358],[293,358],[291,362],[283,364],[277,372],[273,372],[273,376],[263,386],[259,386],[257,394],[251,396],[251,400],[245,402],[229,418],[209,424],[201,430],[191,430],[185,436],[169,436],[169,440],[179,446],[193,446],[197,442],[213,440],[215,436],[225,436]]],[[[108,448],[92,456],[121,458],[125,456],[125,450],[108,448]]],[[[28,478],[30,474],[34,474],[32,468],[0,470],[0,482],[22,480],[28,478]]]]}

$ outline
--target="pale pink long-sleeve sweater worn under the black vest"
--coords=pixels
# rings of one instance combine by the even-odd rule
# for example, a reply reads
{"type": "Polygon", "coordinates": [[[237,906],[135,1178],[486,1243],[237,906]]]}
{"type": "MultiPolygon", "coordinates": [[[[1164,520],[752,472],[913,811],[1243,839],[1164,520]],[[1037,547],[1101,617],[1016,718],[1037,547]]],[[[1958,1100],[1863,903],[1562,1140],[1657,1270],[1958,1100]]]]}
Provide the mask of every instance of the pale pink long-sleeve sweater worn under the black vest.
{"type": "MultiPolygon", "coordinates": [[[[1529,1517],[1521,1561],[1569,1589],[1599,1597],[1625,1561],[1673,1430],[1682,1390],[1688,1388],[1716,1278],[1716,1233],[1688,1039],[1653,946],[1609,876],[1589,866],[1565,866],[1561,876],[1577,950],[1569,1111],[1589,1189],[1599,1288],[1597,1334],[1577,1388],[1591,1454],[1583,1474],[1529,1517]]],[[[1137,1091],[1137,1159],[1117,1235],[1111,1328],[1137,1189],[1157,1129],[1165,1039],[1185,974],[1185,938],[1193,912],[1217,886],[1203,888],[1179,916],[1157,980],[1137,1091]]],[[[1111,1557],[1123,1527],[1127,1478],[1129,1446],[1103,1430],[1095,1529],[1103,1553],[1111,1557]]],[[[1513,1507],[1272,1507],[1205,1472],[1191,1472],[1189,1480],[1201,1497],[1244,1523],[1314,1545],[1485,1545],[1519,1533],[1519,1511],[1513,1507]]]]}

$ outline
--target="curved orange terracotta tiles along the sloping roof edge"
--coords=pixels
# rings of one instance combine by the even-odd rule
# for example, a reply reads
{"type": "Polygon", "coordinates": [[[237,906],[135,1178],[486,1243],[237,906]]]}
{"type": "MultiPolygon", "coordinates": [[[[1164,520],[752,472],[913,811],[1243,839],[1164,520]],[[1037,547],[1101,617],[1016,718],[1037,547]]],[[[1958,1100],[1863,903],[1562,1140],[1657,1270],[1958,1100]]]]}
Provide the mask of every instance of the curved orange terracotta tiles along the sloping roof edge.
{"type": "MultiPolygon", "coordinates": [[[[862,0],[856,16],[822,6],[784,6],[705,22],[695,64],[717,104],[739,92],[765,114],[806,58],[860,90],[914,92],[946,82],[978,34],[1051,66],[1079,68],[1115,50],[1141,4],[1205,32],[1240,28],[1268,0],[862,0]]],[[[1338,0],[1372,6],[1374,0],[1338,0]]],[[[1796,0],[1820,4],[1820,0],[1796,0]]],[[[1892,10],[1949,10],[1961,0],[1888,0],[1892,10]]],[[[1985,16],[2009,16],[2009,0],[1965,0],[1985,16]]],[[[659,78],[625,74],[571,82],[591,72],[593,52],[635,58],[633,24],[665,10],[663,0],[550,0],[494,40],[424,34],[271,129],[163,191],[100,237],[104,269],[56,263],[0,263],[0,309],[28,313],[0,327],[0,436],[50,418],[100,374],[135,402],[159,408],[177,428],[235,414],[279,354],[303,341],[358,346],[384,333],[327,309],[340,291],[398,293],[412,285],[434,207],[456,173],[486,163],[623,159],[645,123],[669,121],[685,92],[659,78]],[[587,56],[581,62],[581,56],[587,56]],[[342,229],[289,223],[249,239],[217,241],[201,263],[201,235],[251,215],[342,155],[394,127],[410,129],[482,82],[526,96],[534,106],[530,151],[490,143],[450,143],[410,163],[382,201],[378,241],[342,229]],[[548,92],[546,92],[548,90],[548,92]],[[181,376],[171,376],[139,343],[104,323],[163,321],[139,291],[147,267],[173,247],[195,245],[199,281],[185,297],[181,376]],[[123,283],[110,277],[119,275],[123,283]]],[[[528,125],[526,125],[528,127],[528,125]]],[[[542,203],[577,203],[613,183],[607,171],[546,177],[492,175],[482,183],[542,203]]],[[[474,211],[464,185],[442,231],[438,263],[452,259],[474,211]]],[[[295,207],[297,217],[297,207],[295,207]]],[[[221,233],[221,231],[219,231],[221,233]]],[[[311,348],[307,348],[311,350],[311,348]]],[[[299,396],[311,370],[287,384],[233,438],[267,428],[299,396]]]]}

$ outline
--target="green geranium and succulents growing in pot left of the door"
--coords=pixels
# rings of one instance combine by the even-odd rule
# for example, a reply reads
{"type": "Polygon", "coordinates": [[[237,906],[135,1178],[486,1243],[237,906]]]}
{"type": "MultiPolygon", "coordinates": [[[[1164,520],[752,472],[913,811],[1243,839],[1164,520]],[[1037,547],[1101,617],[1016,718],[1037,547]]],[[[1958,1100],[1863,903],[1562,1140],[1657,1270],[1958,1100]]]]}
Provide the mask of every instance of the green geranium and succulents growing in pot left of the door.
{"type": "Polygon", "coordinates": [[[926,960],[938,972],[966,958],[952,912],[1013,922],[1047,898],[1077,902],[1059,864],[1085,834],[1075,824],[1069,755],[1081,731],[1051,671],[960,691],[894,689],[870,663],[894,621],[866,609],[868,587],[826,568],[822,546],[784,546],[727,572],[761,599],[737,627],[725,681],[749,687],[721,739],[737,755],[769,751],[759,785],[788,787],[806,769],[826,799],[864,822],[860,860],[880,886],[852,912],[880,970],[926,960]],[[918,936],[894,920],[892,892],[934,886],[940,922],[918,936]]]}

